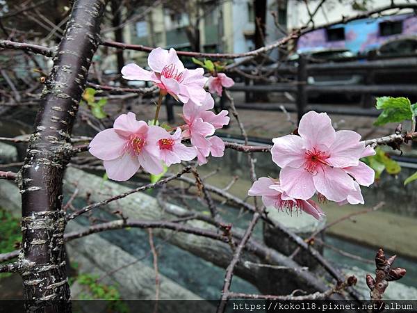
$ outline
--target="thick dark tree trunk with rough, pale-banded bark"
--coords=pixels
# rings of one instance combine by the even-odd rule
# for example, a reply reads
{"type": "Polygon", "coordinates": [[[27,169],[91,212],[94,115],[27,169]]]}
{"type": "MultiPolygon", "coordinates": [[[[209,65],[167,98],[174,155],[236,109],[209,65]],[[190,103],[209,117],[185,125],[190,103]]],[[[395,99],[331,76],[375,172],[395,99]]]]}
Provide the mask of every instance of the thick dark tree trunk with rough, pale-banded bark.
{"type": "Polygon", "coordinates": [[[19,264],[29,312],[71,311],[63,248],[63,173],[72,154],[70,135],[98,46],[105,3],[74,2],[19,172],[23,235],[19,264]]]}

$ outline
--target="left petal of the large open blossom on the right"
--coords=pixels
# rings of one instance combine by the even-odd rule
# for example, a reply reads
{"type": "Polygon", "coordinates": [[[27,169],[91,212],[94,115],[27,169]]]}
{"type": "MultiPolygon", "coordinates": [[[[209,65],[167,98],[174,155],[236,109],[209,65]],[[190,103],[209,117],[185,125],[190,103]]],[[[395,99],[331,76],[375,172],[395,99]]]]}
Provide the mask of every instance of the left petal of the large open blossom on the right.
{"type": "Polygon", "coordinates": [[[272,161],[277,166],[284,168],[290,166],[299,168],[305,162],[304,141],[300,136],[286,135],[284,137],[273,138],[274,143],[271,154],[272,161]]]}

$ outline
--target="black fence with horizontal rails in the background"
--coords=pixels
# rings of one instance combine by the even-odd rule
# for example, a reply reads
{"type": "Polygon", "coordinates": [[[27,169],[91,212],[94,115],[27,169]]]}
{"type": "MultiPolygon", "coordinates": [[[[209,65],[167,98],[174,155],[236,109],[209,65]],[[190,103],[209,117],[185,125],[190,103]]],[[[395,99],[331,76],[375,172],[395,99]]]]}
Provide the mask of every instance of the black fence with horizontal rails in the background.
{"type": "MultiPolygon", "coordinates": [[[[293,64],[277,63],[275,67],[265,67],[263,72],[272,73],[277,80],[286,82],[264,83],[256,79],[245,77],[245,83],[236,83],[229,88],[233,92],[245,93],[245,102],[235,102],[238,109],[297,112],[298,120],[304,112],[315,110],[340,115],[377,116],[375,96],[390,95],[404,96],[417,99],[417,56],[404,58],[389,58],[379,60],[355,60],[345,62],[311,63],[306,56],[300,56],[293,64]],[[332,75],[357,75],[360,83],[337,84],[332,86],[332,75]],[[320,86],[308,83],[309,77],[327,75],[330,83],[320,86]],[[396,77],[396,79],[395,79],[396,77]],[[294,102],[256,102],[256,95],[265,93],[290,93],[294,95],[294,102]],[[360,96],[360,101],[341,104],[317,104],[309,102],[311,95],[352,95],[360,96]]],[[[243,67],[242,72],[253,74],[254,68],[243,67]]],[[[251,75],[248,75],[251,76],[251,75]]],[[[167,99],[167,120],[174,120],[174,101],[167,99]]],[[[227,109],[227,101],[222,97],[220,109],[227,109]]]]}

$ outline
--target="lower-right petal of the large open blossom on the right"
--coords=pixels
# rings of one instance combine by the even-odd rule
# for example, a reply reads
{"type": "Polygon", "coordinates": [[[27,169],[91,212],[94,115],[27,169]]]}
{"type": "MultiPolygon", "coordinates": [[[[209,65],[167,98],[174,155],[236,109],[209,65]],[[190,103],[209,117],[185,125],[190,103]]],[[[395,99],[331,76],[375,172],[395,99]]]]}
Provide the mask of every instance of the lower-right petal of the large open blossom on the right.
{"type": "Polygon", "coordinates": [[[320,166],[313,176],[314,186],[328,200],[342,201],[354,191],[353,179],[341,168],[320,166]]]}

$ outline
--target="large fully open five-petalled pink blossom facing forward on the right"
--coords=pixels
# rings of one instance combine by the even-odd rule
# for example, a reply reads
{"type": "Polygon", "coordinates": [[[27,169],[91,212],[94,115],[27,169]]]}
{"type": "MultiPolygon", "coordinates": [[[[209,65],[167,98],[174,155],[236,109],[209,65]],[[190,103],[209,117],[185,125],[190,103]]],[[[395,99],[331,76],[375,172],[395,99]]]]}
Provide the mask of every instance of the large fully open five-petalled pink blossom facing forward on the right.
{"type": "Polygon", "coordinates": [[[272,160],[280,166],[281,188],[288,196],[309,199],[316,191],[340,202],[357,191],[344,170],[359,166],[365,150],[354,131],[335,131],[326,113],[310,111],[300,120],[300,136],[274,138],[272,160]]]}

